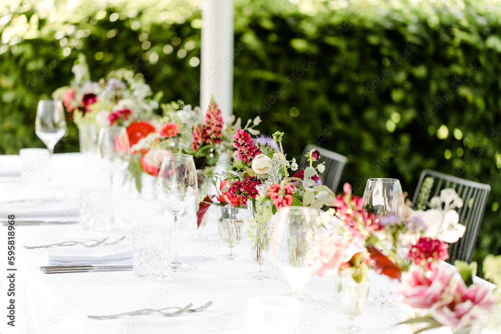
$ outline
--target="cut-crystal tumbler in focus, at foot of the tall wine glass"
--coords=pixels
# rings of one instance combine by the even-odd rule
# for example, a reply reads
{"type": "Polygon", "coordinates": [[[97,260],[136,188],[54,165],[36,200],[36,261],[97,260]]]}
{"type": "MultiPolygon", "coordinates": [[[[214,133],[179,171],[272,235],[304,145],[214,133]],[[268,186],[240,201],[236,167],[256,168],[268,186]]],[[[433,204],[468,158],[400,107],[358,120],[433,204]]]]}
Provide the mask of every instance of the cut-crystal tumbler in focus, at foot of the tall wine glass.
{"type": "Polygon", "coordinates": [[[134,227],[132,263],[134,276],[142,279],[169,277],[172,229],[163,225],[134,227]]]}

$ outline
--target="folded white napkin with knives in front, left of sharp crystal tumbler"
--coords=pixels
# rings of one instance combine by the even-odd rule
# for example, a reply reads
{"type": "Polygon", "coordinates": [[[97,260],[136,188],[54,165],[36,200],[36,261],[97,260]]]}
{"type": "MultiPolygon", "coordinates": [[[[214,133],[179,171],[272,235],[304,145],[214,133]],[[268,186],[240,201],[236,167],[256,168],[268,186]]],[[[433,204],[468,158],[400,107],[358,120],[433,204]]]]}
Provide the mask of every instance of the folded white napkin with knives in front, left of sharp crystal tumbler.
{"type": "Polygon", "coordinates": [[[48,265],[132,265],[132,244],[47,248],[48,265]],[[64,249],[63,249],[64,248],[64,249]]]}

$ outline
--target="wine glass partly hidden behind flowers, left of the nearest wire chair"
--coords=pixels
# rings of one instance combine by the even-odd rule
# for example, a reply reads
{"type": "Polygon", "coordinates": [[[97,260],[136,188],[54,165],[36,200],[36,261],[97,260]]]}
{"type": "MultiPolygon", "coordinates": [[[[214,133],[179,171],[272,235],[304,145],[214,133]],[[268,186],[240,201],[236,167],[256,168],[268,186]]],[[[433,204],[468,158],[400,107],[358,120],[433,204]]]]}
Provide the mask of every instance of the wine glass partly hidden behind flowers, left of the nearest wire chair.
{"type": "MultiPolygon", "coordinates": [[[[398,208],[403,203],[404,196],[399,180],[388,178],[367,180],[362,198],[362,210],[374,213],[376,218],[381,219],[387,214],[398,213],[398,208]]],[[[387,282],[388,278],[380,275],[379,292],[369,299],[369,305],[382,308],[396,306],[396,303],[385,295],[387,282]]]]}

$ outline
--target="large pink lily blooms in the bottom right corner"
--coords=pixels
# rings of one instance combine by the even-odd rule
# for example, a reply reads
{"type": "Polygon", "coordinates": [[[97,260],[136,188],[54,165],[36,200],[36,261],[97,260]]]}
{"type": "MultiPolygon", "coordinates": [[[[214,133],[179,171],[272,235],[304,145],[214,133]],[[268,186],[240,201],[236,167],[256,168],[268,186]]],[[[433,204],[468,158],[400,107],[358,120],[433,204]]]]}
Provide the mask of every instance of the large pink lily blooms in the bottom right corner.
{"type": "Polygon", "coordinates": [[[456,261],[455,265],[458,268],[451,272],[441,272],[436,267],[431,270],[417,265],[410,267],[399,289],[402,302],[430,309],[430,314],[401,323],[427,323],[420,331],[441,326],[462,329],[491,311],[495,303],[492,291],[472,280],[476,263],[456,261]]]}

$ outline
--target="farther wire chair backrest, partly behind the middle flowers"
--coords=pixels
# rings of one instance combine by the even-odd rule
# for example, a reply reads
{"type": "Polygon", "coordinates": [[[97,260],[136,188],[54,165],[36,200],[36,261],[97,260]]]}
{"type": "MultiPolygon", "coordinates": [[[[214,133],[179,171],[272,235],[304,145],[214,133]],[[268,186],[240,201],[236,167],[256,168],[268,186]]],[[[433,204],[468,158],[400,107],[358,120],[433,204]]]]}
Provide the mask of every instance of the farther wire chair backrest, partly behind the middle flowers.
{"type": "Polygon", "coordinates": [[[336,192],[339,185],[339,180],[341,179],[341,174],[343,174],[343,169],[348,158],[336,152],[326,150],[325,148],[308,145],[303,151],[303,157],[299,166],[301,168],[305,167],[307,164],[307,158],[305,155],[313,149],[317,149],[320,152],[320,163],[325,162],[325,172],[322,175],[324,179],[324,184],[331,188],[332,191],[336,192]]]}

